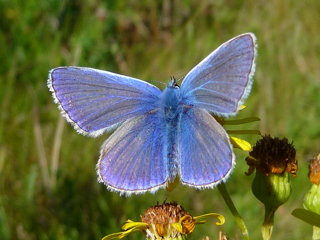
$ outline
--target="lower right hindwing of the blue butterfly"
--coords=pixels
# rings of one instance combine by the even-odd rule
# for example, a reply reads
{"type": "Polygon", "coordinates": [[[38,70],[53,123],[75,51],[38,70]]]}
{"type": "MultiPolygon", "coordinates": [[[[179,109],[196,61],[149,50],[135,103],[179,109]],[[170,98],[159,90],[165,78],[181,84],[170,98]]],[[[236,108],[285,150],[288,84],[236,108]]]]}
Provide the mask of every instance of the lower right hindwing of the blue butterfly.
{"type": "Polygon", "coordinates": [[[212,188],[228,178],[234,165],[228,134],[206,110],[192,107],[181,115],[180,179],[183,184],[212,188]]]}

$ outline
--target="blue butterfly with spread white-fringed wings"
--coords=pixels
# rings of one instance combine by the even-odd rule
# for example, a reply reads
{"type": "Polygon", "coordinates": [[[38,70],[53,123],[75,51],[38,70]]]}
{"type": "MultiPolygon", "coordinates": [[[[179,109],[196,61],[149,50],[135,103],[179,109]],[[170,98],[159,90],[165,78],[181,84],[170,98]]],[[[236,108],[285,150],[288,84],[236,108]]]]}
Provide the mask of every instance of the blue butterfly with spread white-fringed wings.
{"type": "Polygon", "coordinates": [[[148,82],[86,67],[57,67],[47,85],[62,115],[103,143],[98,180],[130,195],[173,182],[198,189],[226,181],[235,164],[225,129],[211,116],[238,112],[255,69],[256,38],[238,35],[161,91],[148,82]]]}

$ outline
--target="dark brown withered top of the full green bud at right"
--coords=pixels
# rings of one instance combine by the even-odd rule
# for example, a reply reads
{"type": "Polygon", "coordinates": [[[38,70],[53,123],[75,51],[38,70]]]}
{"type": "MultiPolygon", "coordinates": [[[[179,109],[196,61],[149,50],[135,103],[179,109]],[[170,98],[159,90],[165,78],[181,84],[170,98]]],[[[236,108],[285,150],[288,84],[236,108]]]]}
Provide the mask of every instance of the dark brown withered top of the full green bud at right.
{"type": "Polygon", "coordinates": [[[246,175],[252,174],[256,168],[264,175],[289,172],[293,177],[296,176],[297,160],[293,141],[290,143],[285,137],[279,139],[270,135],[262,136],[262,139],[253,145],[245,161],[249,165],[246,175]]]}

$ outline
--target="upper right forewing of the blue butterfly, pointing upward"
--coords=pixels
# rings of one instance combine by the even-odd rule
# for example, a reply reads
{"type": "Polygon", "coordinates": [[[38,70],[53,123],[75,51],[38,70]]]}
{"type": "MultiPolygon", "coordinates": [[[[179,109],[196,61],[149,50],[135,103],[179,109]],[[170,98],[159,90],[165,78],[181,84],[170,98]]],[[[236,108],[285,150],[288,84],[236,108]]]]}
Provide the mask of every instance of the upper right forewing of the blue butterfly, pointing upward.
{"type": "Polygon", "coordinates": [[[182,103],[217,115],[235,114],[251,89],[255,56],[253,33],[223,43],[185,76],[181,84],[182,103]]]}

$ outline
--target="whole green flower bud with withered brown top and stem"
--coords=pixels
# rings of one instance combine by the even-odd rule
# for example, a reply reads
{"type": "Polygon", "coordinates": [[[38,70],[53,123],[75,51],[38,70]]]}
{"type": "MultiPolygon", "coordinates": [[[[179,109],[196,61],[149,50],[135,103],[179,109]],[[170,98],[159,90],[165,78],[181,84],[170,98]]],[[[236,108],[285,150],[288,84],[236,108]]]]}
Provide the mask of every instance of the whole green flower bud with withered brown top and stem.
{"type": "Polygon", "coordinates": [[[289,173],[296,176],[295,149],[287,138],[262,136],[245,158],[249,166],[246,175],[253,173],[252,193],[264,204],[263,239],[270,239],[276,209],[286,202],[291,194],[289,173]]]}

